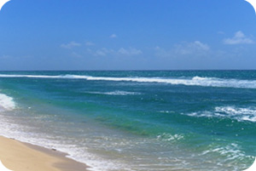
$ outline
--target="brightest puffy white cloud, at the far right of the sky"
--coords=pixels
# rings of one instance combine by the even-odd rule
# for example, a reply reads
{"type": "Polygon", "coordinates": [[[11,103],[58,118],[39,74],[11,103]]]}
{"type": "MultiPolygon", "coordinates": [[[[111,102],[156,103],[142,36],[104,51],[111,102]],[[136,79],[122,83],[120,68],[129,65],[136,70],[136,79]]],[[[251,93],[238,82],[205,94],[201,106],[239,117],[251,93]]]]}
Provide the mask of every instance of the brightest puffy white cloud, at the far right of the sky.
{"type": "Polygon", "coordinates": [[[224,39],[224,44],[252,44],[252,43],[254,43],[253,39],[246,37],[242,31],[237,31],[235,33],[235,36],[232,38],[224,39]]]}

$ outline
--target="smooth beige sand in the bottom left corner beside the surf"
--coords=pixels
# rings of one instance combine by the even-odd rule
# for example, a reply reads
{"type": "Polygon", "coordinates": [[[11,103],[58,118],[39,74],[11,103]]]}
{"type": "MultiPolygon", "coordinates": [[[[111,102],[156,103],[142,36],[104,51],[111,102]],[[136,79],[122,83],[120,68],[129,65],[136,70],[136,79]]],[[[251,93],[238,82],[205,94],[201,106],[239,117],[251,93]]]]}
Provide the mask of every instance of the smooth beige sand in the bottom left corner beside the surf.
{"type": "Polygon", "coordinates": [[[85,171],[86,165],[65,157],[66,154],[21,143],[0,136],[0,160],[14,171],[85,171]]]}

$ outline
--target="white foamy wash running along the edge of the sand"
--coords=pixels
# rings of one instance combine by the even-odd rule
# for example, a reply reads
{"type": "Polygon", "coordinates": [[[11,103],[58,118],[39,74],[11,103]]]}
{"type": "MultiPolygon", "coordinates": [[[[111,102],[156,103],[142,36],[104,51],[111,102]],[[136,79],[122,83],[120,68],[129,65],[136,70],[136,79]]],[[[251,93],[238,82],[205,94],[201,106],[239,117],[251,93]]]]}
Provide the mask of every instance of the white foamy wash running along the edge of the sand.
{"type": "MultiPolygon", "coordinates": [[[[33,120],[38,122],[34,118],[27,119],[28,121],[33,120]]],[[[22,142],[30,143],[32,145],[40,145],[49,149],[56,149],[57,151],[62,151],[68,154],[67,157],[74,159],[78,162],[84,162],[91,168],[88,168],[92,171],[102,171],[102,170],[119,170],[119,168],[124,167],[124,171],[130,171],[125,164],[115,163],[113,160],[108,160],[106,158],[98,157],[91,152],[87,151],[87,148],[84,145],[81,145],[79,140],[74,140],[67,138],[65,136],[49,134],[48,132],[38,132],[35,126],[30,124],[25,125],[15,123],[13,117],[9,115],[1,115],[0,119],[0,135],[3,135],[7,138],[15,138],[15,140],[20,140],[22,142]]],[[[38,124],[40,125],[40,123],[38,124]]],[[[42,126],[42,125],[40,125],[42,126]]],[[[39,127],[40,127],[39,126],[39,127]]],[[[42,130],[42,128],[39,128],[42,130]]]]}

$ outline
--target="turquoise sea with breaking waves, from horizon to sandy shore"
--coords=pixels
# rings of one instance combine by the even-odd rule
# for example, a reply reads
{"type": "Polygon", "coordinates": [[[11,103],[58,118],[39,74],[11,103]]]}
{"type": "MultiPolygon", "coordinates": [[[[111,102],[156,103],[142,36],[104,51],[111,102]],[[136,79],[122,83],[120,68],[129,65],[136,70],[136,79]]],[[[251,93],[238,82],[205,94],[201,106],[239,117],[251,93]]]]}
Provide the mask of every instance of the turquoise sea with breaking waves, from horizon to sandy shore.
{"type": "Polygon", "coordinates": [[[2,71],[0,134],[92,170],[244,170],[256,71],[2,71]]]}

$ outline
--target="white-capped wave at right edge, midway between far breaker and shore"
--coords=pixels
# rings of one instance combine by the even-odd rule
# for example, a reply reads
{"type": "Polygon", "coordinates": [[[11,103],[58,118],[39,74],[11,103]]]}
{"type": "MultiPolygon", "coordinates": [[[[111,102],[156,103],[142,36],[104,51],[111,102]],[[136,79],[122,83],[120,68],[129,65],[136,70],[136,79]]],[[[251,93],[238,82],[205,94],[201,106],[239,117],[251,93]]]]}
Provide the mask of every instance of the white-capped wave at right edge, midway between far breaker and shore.
{"type": "Polygon", "coordinates": [[[218,106],[214,111],[200,111],[188,114],[191,117],[229,117],[240,122],[256,123],[256,108],[241,108],[235,106],[218,106]]]}

